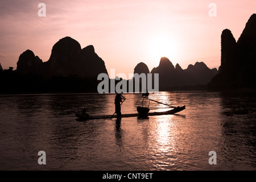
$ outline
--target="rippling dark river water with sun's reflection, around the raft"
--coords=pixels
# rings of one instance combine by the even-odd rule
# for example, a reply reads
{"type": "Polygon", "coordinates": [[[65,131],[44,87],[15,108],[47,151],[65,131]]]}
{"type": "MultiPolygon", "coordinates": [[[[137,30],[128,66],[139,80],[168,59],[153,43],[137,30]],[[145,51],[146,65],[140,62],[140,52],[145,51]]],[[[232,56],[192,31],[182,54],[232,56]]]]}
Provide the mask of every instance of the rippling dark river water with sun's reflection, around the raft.
{"type": "MultiPolygon", "coordinates": [[[[141,94],[124,94],[122,114],[137,113],[141,94]]],[[[114,94],[0,96],[1,170],[255,170],[256,97],[160,92],[186,109],[148,118],[77,121],[75,112],[113,114],[114,94]],[[248,114],[233,112],[248,106],[248,114]],[[46,165],[38,152],[46,152],[46,165]],[[217,164],[209,164],[209,152],[217,164]]],[[[164,105],[150,102],[151,107],[164,105]]],[[[153,111],[153,110],[152,110],[153,111]]]]}

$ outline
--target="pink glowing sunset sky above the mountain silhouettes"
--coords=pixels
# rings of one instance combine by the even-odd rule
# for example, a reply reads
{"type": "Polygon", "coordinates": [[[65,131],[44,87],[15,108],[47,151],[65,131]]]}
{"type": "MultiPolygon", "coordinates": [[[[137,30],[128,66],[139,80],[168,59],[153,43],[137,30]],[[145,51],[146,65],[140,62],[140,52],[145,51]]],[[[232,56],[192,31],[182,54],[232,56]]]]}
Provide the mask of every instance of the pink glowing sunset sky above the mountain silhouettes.
{"type": "Polygon", "coordinates": [[[81,47],[93,45],[108,72],[133,73],[139,62],[151,69],[166,56],[185,69],[196,61],[220,66],[221,32],[232,31],[237,40],[255,0],[220,1],[15,1],[0,3],[0,63],[14,67],[19,55],[31,49],[43,61],[52,46],[70,36],[81,47]],[[46,4],[46,17],[38,4],[46,4]],[[215,3],[217,16],[208,7],[215,3]]]}

